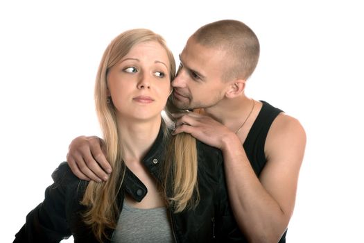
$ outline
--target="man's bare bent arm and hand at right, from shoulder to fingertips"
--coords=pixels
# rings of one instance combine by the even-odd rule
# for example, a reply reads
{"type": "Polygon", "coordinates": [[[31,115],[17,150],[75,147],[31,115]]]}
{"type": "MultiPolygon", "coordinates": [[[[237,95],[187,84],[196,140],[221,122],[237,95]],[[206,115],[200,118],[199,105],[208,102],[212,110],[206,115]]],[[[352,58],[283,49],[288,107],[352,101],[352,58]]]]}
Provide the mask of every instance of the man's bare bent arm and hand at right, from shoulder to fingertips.
{"type": "Polygon", "coordinates": [[[223,151],[232,209],[250,242],[278,242],[291,219],[306,135],[297,119],[280,114],[266,139],[266,166],[254,174],[241,140],[210,117],[190,112],[174,133],[193,137],[223,151]]]}

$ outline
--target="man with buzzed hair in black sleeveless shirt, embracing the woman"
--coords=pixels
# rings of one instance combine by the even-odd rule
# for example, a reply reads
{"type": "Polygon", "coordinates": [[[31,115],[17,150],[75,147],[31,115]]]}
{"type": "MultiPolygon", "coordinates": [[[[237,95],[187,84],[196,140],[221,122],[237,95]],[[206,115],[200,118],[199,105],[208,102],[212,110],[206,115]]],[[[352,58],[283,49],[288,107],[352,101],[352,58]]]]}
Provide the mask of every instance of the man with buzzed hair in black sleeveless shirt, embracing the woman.
{"type": "MultiPolygon", "coordinates": [[[[258,59],[257,36],[242,22],[213,22],[193,33],[171,99],[194,112],[175,114],[173,133],[191,133],[223,151],[229,198],[249,242],[285,242],[306,135],[297,119],[245,95],[258,59]]],[[[100,141],[78,137],[70,144],[67,160],[76,176],[107,179],[111,168],[100,141]]]]}

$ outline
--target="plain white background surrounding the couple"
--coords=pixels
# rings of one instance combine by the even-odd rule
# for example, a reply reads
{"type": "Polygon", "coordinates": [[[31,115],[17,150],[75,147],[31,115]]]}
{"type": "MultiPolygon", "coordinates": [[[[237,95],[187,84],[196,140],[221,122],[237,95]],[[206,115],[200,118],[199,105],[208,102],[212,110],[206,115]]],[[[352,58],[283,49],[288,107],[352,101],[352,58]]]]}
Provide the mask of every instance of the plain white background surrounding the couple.
{"type": "Polygon", "coordinates": [[[177,58],[193,31],[219,19],[245,22],[261,42],[248,96],[306,129],[288,242],[364,242],[359,2],[1,1],[1,242],[42,201],[73,137],[100,134],[94,77],[112,38],[150,28],[177,58]]]}

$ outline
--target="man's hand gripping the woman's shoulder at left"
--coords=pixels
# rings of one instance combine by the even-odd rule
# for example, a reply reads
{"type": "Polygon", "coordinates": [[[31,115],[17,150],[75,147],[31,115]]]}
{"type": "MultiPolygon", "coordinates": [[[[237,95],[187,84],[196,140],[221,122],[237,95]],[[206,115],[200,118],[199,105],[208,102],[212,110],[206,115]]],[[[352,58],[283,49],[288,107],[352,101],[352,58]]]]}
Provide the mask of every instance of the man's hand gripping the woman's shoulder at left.
{"type": "Polygon", "coordinates": [[[67,162],[73,174],[86,181],[107,181],[112,171],[105,158],[103,140],[96,136],[80,136],[72,140],[67,162]]]}

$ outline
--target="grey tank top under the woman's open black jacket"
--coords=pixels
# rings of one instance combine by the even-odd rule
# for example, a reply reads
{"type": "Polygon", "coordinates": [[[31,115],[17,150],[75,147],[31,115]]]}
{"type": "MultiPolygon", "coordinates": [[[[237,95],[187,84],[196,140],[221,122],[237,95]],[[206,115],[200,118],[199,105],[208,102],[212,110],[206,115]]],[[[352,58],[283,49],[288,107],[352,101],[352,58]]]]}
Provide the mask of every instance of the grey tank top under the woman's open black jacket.
{"type": "Polygon", "coordinates": [[[112,242],[174,242],[167,213],[166,208],[132,208],[124,201],[112,242]]]}

